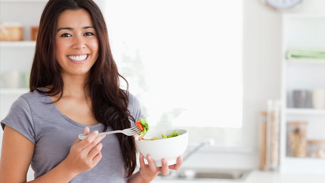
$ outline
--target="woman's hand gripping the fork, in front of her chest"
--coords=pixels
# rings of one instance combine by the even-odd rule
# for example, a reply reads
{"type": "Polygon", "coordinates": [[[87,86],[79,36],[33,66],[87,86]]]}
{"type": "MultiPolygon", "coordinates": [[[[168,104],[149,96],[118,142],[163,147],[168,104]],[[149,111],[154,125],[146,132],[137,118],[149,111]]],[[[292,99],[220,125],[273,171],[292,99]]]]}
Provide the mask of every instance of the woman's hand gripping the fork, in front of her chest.
{"type": "MultiPolygon", "coordinates": [[[[89,133],[86,127],[83,133],[89,133]]],[[[93,131],[87,138],[80,140],[79,138],[70,148],[70,153],[63,160],[68,170],[73,171],[76,175],[89,171],[102,159],[102,147],[100,142],[105,136],[97,137],[98,131],[93,131]]],[[[63,163],[62,162],[62,163],[63,163]]]]}

